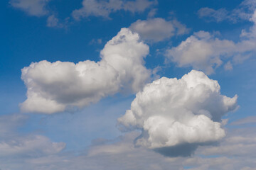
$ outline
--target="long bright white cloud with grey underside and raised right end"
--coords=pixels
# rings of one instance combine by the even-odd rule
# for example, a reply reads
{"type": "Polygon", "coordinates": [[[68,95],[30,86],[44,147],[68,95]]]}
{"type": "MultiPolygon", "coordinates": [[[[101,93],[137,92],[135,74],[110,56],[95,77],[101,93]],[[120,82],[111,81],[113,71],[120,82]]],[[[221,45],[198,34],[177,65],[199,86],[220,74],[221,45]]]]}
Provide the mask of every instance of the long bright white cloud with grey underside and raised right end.
{"type": "Polygon", "coordinates": [[[32,63],[22,69],[28,98],[21,103],[21,111],[56,113],[119,91],[138,91],[150,77],[143,65],[148,53],[149,47],[137,33],[122,28],[100,52],[100,62],[32,63]]]}

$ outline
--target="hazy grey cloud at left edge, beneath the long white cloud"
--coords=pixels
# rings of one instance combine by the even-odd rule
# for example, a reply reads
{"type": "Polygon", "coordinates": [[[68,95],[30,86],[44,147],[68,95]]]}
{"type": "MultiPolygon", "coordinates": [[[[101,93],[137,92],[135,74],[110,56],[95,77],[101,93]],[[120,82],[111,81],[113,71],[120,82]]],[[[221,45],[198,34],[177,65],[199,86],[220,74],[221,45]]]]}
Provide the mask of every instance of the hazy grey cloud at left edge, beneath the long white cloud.
{"type": "Polygon", "coordinates": [[[65,148],[64,142],[51,142],[43,135],[20,135],[16,129],[27,119],[28,116],[19,114],[0,116],[0,159],[39,157],[56,154],[65,148]]]}

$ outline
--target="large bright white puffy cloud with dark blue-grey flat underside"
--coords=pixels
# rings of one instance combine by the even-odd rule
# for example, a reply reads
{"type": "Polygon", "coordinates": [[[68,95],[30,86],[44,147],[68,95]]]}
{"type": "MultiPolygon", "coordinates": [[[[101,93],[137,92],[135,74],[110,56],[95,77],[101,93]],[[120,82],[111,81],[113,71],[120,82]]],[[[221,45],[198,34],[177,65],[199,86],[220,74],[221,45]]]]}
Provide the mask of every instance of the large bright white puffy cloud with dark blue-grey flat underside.
{"type": "Polygon", "coordinates": [[[168,149],[176,151],[169,156],[188,156],[198,145],[225,136],[219,122],[225,113],[238,107],[237,98],[221,95],[218,81],[203,72],[193,70],[181,79],[163,77],[137,93],[131,109],[118,119],[119,127],[142,129],[136,145],[164,154],[168,149]]]}

